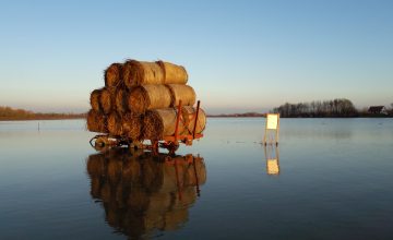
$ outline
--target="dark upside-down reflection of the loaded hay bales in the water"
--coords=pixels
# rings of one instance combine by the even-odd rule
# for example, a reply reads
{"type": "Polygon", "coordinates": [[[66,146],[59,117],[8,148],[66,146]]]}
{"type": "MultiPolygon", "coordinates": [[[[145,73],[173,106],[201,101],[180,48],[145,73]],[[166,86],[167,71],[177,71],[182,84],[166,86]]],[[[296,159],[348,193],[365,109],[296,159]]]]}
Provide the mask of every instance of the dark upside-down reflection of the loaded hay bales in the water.
{"type": "Polygon", "coordinates": [[[198,187],[206,181],[200,156],[156,156],[123,147],[88,156],[86,172],[91,195],[105,208],[106,221],[138,239],[181,227],[198,187]]]}

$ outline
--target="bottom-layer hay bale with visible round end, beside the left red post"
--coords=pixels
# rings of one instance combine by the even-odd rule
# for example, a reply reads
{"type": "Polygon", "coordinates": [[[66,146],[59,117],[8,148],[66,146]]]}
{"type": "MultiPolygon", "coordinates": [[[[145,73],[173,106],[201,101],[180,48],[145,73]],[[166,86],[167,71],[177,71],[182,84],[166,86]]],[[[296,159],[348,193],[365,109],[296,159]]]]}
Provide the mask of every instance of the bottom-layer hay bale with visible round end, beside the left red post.
{"type": "MultiPolygon", "coordinates": [[[[146,111],[144,118],[144,136],[147,140],[162,140],[165,135],[174,135],[177,111],[174,108],[163,108],[146,111]]],[[[178,133],[184,131],[184,125],[179,121],[178,133]]]]}

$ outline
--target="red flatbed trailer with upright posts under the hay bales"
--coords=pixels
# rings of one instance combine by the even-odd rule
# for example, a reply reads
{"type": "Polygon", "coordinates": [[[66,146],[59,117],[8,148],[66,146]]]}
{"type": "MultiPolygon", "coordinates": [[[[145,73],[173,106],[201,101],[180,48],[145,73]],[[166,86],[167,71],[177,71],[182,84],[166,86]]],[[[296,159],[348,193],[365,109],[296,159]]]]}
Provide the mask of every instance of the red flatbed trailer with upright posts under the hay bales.
{"type": "Polygon", "coordinates": [[[198,115],[200,110],[199,100],[196,104],[196,111],[193,113],[191,121],[194,121],[193,131],[190,134],[179,134],[179,122],[181,120],[181,100],[178,106],[178,113],[176,118],[175,133],[174,135],[166,135],[163,140],[150,140],[151,144],[143,144],[140,141],[132,141],[124,136],[111,135],[111,134],[99,134],[95,135],[91,141],[91,145],[96,149],[110,148],[112,146],[129,146],[133,148],[147,148],[152,149],[153,153],[158,153],[158,148],[163,147],[169,151],[169,154],[174,154],[178,148],[180,143],[186,145],[192,145],[194,140],[201,139],[202,133],[195,133],[198,124],[198,115]]]}

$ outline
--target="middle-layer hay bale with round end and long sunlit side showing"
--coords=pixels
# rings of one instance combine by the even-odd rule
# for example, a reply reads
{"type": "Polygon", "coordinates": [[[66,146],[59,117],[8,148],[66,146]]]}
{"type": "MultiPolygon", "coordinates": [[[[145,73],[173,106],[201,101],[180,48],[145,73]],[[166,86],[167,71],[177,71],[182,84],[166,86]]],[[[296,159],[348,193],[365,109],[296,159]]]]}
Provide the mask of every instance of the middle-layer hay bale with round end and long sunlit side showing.
{"type": "Polygon", "coordinates": [[[170,91],[165,85],[142,85],[131,91],[129,107],[138,115],[150,109],[170,107],[170,91]]]}

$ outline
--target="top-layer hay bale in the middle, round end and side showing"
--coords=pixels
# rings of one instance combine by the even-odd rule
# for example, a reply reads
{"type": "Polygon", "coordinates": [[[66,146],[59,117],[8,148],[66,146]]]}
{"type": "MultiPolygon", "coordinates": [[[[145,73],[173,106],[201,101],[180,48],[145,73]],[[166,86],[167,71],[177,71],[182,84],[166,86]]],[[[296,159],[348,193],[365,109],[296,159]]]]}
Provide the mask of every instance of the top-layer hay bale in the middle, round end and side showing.
{"type": "Polygon", "coordinates": [[[142,84],[164,83],[163,69],[156,62],[128,60],[123,65],[122,77],[130,89],[142,84]]]}

